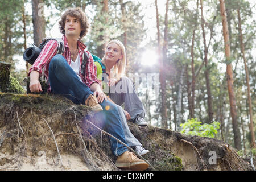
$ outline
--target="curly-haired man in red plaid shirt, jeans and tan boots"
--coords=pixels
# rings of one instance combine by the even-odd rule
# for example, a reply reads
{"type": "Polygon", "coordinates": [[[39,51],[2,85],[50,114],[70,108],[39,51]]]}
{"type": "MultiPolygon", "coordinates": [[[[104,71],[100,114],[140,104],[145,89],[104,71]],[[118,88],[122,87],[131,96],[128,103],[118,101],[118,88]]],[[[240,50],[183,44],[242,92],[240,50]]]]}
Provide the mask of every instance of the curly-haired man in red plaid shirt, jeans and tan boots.
{"type": "MultiPolygon", "coordinates": [[[[88,31],[88,21],[81,9],[68,9],[61,16],[59,22],[63,35],[64,53],[57,55],[57,41],[50,40],[44,46],[38,59],[30,68],[31,92],[42,92],[39,77],[47,78],[53,94],[62,94],[75,104],[84,104],[92,107],[93,111],[101,111],[104,115],[104,126],[108,133],[112,134],[123,143],[127,144],[121,117],[117,105],[108,101],[96,78],[97,67],[93,63],[92,55],[88,51],[89,59],[85,68],[81,67],[84,49],[86,46],[79,40],[88,31]],[[82,73],[84,72],[84,74],[82,73]],[[97,97],[96,97],[97,96],[97,97]]],[[[112,152],[117,156],[115,165],[121,169],[145,170],[148,164],[138,159],[135,154],[129,152],[127,147],[110,137],[112,152]]]]}

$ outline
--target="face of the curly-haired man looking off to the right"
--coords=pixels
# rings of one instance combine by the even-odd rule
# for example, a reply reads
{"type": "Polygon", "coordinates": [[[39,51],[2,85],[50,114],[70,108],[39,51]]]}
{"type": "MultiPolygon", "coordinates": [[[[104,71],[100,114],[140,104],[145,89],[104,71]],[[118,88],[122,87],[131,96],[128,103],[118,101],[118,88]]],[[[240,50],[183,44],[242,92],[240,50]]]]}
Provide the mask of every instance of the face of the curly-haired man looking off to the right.
{"type": "Polygon", "coordinates": [[[67,15],[64,30],[66,36],[79,36],[82,31],[80,20],[67,15]]]}

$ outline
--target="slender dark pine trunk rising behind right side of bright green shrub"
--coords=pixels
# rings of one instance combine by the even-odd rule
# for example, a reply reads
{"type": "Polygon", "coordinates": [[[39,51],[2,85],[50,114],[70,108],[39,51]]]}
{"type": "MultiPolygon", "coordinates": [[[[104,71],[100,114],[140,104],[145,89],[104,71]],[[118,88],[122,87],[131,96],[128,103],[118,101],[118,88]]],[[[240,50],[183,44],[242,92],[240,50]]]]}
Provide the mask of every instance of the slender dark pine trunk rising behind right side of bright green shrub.
{"type": "Polygon", "coordinates": [[[200,0],[201,3],[201,27],[203,32],[203,39],[204,39],[204,64],[205,64],[205,80],[207,86],[207,106],[208,106],[208,123],[212,122],[213,120],[213,111],[212,111],[212,93],[210,90],[210,78],[209,78],[209,68],[208,68],[208,48],[205,38],[205,30],[204,30],[204,16],[203,16],[203,0],[200,0]]]}

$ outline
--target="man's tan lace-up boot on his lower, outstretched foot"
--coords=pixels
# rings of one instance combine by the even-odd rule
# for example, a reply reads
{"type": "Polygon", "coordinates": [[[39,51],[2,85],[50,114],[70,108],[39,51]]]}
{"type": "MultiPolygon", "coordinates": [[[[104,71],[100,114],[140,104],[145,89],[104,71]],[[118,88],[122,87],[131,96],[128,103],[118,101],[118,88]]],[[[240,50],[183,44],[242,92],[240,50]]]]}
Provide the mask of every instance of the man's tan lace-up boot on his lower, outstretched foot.
{"type": "Polygon", "coordinates": [[[133,152],[126,151],[122,155],[120,155],[115,161],[115,166],[125,170],[132,171],[144,171],[149,165],[137,158],[137,156],[133,152]]]}

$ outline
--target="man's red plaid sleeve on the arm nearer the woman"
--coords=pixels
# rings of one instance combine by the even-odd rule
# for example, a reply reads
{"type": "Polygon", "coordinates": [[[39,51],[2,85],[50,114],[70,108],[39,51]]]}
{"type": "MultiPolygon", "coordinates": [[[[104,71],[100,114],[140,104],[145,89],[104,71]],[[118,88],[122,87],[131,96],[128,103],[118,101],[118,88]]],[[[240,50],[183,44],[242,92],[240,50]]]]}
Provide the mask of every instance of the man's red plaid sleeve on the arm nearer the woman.
{"type": "Polygon", "coordinates": [[[95,82],[97,84],[100,84],[100,82],[97,80],[97,67],[93,62],[93,57],[90,54],[90,52],[86,51],[89,55],[89,59],[87,60],[87,63],[85,65],[85,73],[86,73],[86,78],[85,78],[85,84],[90,88],[90,86],[92,86],[92,84],[94,84],[95,82]]]}

